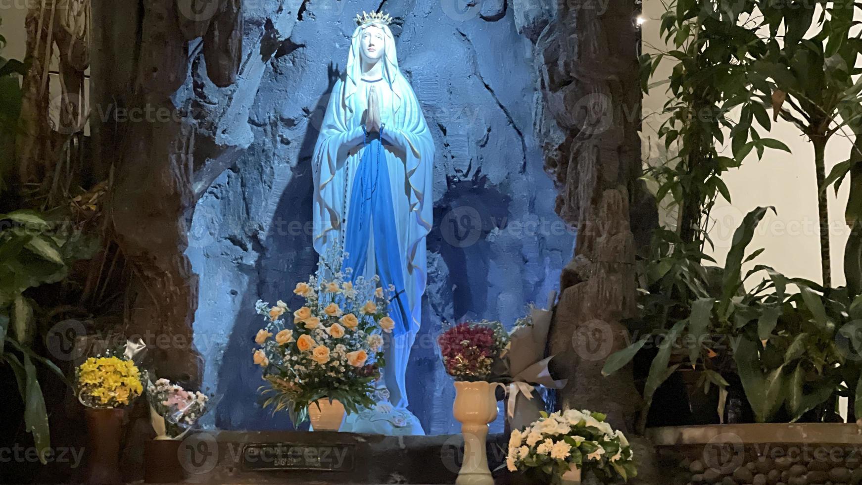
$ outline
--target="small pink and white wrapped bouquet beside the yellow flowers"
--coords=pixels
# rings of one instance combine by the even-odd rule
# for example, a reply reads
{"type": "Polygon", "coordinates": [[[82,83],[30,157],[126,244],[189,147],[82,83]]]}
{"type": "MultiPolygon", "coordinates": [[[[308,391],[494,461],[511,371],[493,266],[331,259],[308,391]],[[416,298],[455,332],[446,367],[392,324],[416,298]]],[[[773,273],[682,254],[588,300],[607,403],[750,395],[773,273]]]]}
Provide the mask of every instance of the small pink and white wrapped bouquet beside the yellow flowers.
{"type": "Polygon", "coordinates": [[[150,421],[156,439],[180,439],[209,408],[209,396],[187,391],[167,379],[147,382],[150,421]]]}

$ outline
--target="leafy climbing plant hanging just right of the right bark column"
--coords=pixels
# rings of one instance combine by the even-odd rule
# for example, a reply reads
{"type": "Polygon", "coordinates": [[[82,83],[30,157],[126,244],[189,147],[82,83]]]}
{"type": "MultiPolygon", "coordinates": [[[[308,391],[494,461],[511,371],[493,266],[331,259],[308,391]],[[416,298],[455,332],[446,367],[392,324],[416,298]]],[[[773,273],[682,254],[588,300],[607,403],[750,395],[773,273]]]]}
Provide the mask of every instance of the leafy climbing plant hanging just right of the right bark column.
{"type": "Polygon", "coordinates": [[[730,202],[721,174],[739,166],[745,154],[765,148],[790,151],[784,143],[762,138],[753,126],[756,119],[770,128],[762,99],[750,89],[747,64],[766,52],[756,34],[754,0],[732,5],[721,0],[674,0],[665,3],[659,34],[669,49],[641,56],[641,82],[645,93],[668,84],[670,99],[660,113],[665,121],[659,138],[674,155],[661,165],[647,167],[645,179],[653,183],[659,202],[670,195],[676,207],[676,229],[684,243],[703,243],[709,210],[720,194],[730,202]],[[656,80],[659,65],[674,62],[671,76],[656,80]],[[653,83],[651,83],[653,81],[653,83]],[[731,110],[740,109],[739,119],[731,110]],[[719,154],[730,129],[734,158],[719,154]],[[671,148],[675,147],[676,150],[671,148]]]}

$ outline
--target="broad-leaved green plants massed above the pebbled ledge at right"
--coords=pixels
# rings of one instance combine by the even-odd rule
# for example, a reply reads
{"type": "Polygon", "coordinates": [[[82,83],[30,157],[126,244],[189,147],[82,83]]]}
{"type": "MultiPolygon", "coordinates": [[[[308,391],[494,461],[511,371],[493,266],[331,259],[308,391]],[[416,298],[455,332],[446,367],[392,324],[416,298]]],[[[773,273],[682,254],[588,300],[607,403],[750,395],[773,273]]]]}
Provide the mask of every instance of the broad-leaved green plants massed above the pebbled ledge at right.
{"type": "Polygon", "coordinates": [[[756,208],[746,215],[723,269],[703,267],[680,252],[647,264],[644,277],[654,283],[643,289],[641,316],[633,323],[647,335],[611,355],[603,369],[610,375],[647,344],[666,342],[658,345],[647,376],[641,430],[656,390],[686,361],[703,368],[707,386],[726,387],[721,375],[738,373],[759,422],[798,420],[840,390],[847,352],[836,345],[836,337],[852,321],[846,289],[824,289],[764,265],[742,274],[742,265],[762,252],[746,256],[767,210],[756,208]],[[747,280],[764,273],[753,289],[744,289],[747,280]],[[788,285],[799,292],[791,294],[788,285]],[[782,408],[786,417],[780,414],[782,408]]]}

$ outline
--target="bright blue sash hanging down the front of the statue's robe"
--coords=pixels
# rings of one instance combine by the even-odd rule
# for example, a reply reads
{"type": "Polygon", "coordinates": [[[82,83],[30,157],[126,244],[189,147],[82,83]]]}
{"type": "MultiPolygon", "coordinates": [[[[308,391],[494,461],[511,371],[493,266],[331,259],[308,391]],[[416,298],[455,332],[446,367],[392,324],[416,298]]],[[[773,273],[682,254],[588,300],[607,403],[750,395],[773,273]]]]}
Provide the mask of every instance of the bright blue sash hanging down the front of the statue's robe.
{"type": "Polygon", "coordinates": [[[353,178],[350,205],[347,206],[347,235],[345,268],[353,269],[353,280],[365,276],[368,263],[368,245],[374,240],[374,255],[377,274],[384,288],[395,287],[396,297],[390,302],[390,318],[395,320],[393,332],[396,335],[409,330],[409,303],[404,291],[404,277],[401,270],[401,251],[398,248],[398,230],[395,222],[395,209],[392,207],[392,190],[386,158],[383,156],[384,127],[379,136],[369,142],[368,133],[362,127],[365,152],[359,163],[359,170],[353,178]],[[384,170],[381,175],[381,165],[384,170]]]}

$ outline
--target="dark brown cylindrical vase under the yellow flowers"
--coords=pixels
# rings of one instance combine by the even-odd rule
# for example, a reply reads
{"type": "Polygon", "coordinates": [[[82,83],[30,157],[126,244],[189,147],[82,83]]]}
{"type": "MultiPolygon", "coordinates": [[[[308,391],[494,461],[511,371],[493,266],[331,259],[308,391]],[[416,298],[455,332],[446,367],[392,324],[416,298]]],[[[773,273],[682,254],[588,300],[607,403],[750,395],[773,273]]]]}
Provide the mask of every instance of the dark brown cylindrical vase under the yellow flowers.
{"type": "Polygon", "coordinates": [[[87,475],[90,485],[121,483],[122,409],[84,409],[87,420],[87,475]]]}

